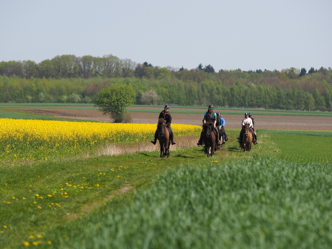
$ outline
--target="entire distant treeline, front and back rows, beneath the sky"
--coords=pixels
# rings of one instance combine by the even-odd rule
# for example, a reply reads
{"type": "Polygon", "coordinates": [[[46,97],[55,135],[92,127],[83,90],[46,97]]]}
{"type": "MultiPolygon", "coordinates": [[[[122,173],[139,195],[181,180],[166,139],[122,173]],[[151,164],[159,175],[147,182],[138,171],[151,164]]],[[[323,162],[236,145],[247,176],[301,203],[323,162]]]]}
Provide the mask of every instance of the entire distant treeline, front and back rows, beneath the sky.
{"type": "Polygon", "coordinates": [[[127,84],[136,104],[332,110],[332,69],[307,72],[160,68],[116,56],[56,56],[33,61],[0,62],[0,102],[93,103],[99,90],[127,84]]]}

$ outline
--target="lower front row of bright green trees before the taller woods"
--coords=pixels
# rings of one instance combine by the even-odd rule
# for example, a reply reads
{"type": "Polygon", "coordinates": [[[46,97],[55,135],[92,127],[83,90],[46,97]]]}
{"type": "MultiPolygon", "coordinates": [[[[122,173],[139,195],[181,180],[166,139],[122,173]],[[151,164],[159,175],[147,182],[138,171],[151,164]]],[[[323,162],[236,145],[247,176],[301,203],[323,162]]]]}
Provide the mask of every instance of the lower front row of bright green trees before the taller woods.
{"type": "Polygon", "coordinates": [[[207,73],[196,68],[193,69],[197,72],[196,77],[202,77],[193,80],[190,71],[184,69],[178,76],[160,79],[144,76],[89,79],[0,76],[0,102],[95,103],[97,93],[105,87],[124,84],[134,89],[135,104],[332,110],[330,68],[292,79],[277,71],[207,73]]]}

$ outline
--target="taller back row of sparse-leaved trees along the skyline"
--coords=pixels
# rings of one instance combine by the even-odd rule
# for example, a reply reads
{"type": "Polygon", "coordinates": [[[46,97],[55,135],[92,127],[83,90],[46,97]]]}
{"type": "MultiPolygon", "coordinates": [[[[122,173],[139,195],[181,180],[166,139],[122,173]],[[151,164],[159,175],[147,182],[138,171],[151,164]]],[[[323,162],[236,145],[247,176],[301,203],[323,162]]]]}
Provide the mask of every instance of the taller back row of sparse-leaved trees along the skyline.
{"type": "MultiPolygon", "coordinates": [[[[308,72],[305,68],[297,69],[294,67],[282,69],[281,71],[261,70],[241,71],[247,74],[262,74],[264,72],[276,74],[277,77],[285,79],[297,79],[307,74],[316,72],[325,73],[326,68],[314,69],[311,67],[308,72]]],[[[227,70],[225,70],[227,71],[227,70]]],[[[223,75],[224,70],[215,72],[212,65],[203,66],[199,64],[196,68],[187,69],[184,67],[159,67],[150,63],[136,63],[130,59],[120,59],[112,54],[103,57],[94,57],[91,55],[57,55],[52,59],[46,59],[40,63],[31,60],[25,61],[2,61],[0,62],[0,75],[19,76],[22,78],[93,78],[93,77],[137,77],[161,79],[176,77],[184,81],[202,82],[205,78],[214,77],[217,79],[223,75]]],[[[228,71],[227,71],[228,72],[228,71]]]]}

